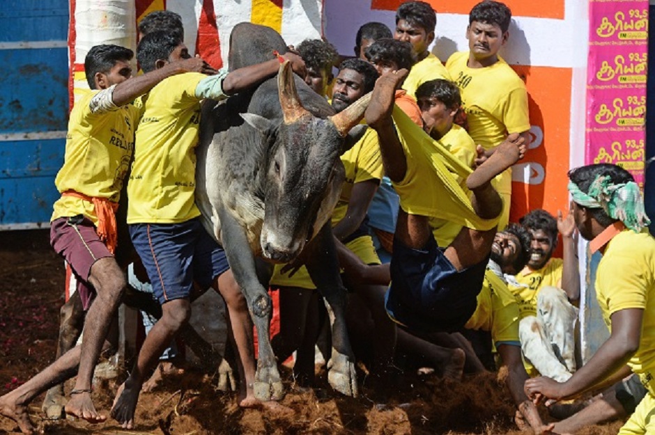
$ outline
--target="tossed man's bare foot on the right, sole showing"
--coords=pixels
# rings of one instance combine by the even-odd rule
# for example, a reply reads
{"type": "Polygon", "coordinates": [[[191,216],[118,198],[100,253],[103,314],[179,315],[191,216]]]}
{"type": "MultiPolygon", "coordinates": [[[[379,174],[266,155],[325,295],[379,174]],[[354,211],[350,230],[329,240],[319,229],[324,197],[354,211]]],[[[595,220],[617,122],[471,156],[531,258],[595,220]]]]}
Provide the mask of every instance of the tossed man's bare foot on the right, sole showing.
{"type": "Polygon", "coordinates": [[[495,148],[491,157],[478,166],[466,179],[466,187],[470,190],[479,189],[491,182],[511,165],[523,158],[525,141],[518,134],[510,134],[507,139],[495,148]]]}

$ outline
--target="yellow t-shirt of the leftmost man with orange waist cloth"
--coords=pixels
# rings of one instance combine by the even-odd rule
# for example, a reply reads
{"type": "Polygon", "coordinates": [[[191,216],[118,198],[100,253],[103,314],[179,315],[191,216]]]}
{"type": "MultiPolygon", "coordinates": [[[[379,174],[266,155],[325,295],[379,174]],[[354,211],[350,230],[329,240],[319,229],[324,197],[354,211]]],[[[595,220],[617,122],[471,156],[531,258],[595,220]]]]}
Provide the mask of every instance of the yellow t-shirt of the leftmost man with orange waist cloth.
{"type": "MultiPolygon", "coordinates": [[[[134,150],[138,110],[126,104],[114,111],[91,113],[89,102],[98,92],[86,92],[70,112],[66,153],[54,184],[60,192],[73,190],[118,203],[134,150]]],[[[95,207],[86,200],[63,196],[53,208],[51,221],[83,214],[98,225],[95,207]]]]}

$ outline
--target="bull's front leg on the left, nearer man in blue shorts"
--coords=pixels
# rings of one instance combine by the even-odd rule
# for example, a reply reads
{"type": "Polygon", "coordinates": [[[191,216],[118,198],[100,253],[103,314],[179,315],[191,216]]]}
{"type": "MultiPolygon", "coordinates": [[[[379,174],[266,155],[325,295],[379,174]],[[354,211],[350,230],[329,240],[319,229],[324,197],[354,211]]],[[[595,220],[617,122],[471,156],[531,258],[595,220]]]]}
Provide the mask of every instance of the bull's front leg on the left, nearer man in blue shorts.
{"type": "Polygon", "coordinates": [[[270,346],[270,315],[272,301],[257,277],[254,255],[243,228],[225,209],[218,212],[222,228],[222,242],[234,279],[241,287],[248,303],[250,317],[257,329],[259,355],[254,380],[254,395],[262,401],[280,400],[284,387],[277,370],[277,362],[270,346]]]}

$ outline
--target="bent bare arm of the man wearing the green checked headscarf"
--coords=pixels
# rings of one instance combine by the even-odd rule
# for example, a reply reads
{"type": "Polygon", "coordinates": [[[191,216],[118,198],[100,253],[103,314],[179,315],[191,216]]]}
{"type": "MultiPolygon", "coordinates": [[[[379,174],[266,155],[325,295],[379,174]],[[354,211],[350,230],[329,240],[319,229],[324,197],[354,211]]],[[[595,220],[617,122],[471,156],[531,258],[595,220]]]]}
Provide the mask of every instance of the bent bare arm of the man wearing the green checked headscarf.
{"type": "Polygon", "coordinates": [[[611,317],[610,338],[568,381],[558,383],[547,377],[528,379],[525,381],[525,392],[533,400],[567,400],[601,387],[607,378],[625,367],[639,348],[643,317],[642,308],[616,311],[611,317]]]}

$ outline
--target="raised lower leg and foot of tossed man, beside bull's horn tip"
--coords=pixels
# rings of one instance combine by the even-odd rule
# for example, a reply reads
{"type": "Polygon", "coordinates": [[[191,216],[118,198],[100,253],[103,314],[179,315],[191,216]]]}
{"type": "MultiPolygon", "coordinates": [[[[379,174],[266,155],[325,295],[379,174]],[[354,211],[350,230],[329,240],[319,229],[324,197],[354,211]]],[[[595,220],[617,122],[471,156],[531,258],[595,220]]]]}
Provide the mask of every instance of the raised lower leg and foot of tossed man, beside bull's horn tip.
{"type": "Polygon", "coordinates": [[[383,74],[376,81],[371,102],[365,113],[367,124],[378,133],[385,174],[394,182],[402,181],[407,173],[407,158],[391,116],[396,88],[406,75],[407,70],[404,69],[383,74]]]}

